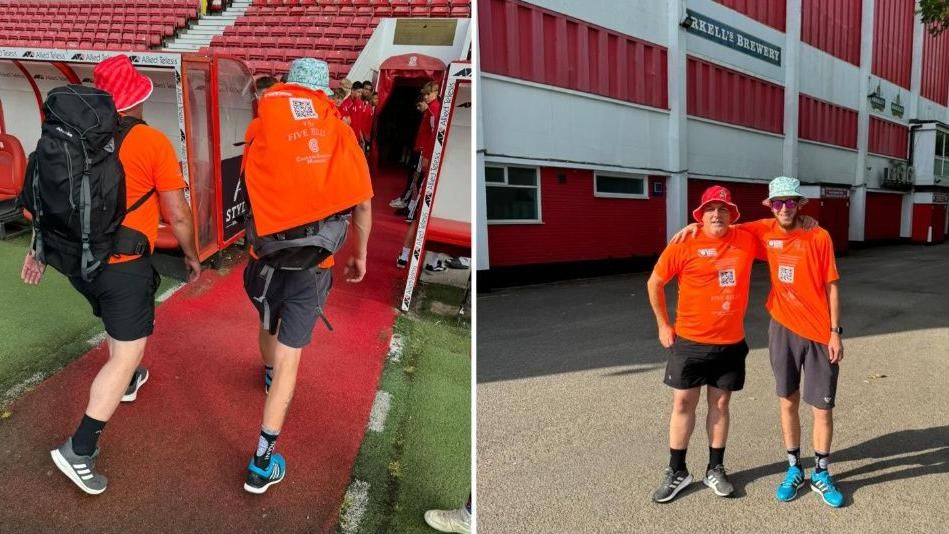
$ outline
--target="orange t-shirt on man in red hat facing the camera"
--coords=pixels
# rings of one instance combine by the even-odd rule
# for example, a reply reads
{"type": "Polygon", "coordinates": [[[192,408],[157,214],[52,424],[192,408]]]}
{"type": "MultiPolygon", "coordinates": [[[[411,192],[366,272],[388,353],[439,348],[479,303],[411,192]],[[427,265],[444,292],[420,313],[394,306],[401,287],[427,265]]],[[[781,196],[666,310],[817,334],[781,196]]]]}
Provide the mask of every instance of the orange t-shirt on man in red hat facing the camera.
{"type": "Polygon", "coordinates": [[[676,335],[710,345],[744,339],[751,266],[761,254],[755,236],[736,229],[720,239],[700,232],[666,247],[653,273],[663,282],[678,280],[676,335]]]}

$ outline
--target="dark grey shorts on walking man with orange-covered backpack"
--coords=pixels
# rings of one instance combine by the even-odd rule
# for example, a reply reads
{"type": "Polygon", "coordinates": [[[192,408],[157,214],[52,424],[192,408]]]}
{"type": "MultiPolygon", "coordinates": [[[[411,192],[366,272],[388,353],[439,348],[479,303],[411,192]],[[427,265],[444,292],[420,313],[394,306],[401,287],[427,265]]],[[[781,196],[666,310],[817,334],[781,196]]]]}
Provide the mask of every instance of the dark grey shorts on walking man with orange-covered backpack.
{"type": "Polygon", "coordinates": [[[278,341],[297,349],[310,344],[332,286],[330,269],[280,271],[254,259],[244,269],[244,291],[261,325],[278,341]]]}

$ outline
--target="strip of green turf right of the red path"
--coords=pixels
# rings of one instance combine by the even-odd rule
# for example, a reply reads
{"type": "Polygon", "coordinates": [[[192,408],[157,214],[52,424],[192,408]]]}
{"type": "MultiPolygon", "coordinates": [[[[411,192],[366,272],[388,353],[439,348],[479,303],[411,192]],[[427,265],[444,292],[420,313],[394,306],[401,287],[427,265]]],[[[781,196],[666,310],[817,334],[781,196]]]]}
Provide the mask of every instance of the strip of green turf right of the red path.
{"type": "Polygon", "coordinates": [[[386,426],[366,433],[353,468],[353,480],[369,483],[359,532],[428,534],[425,510],[459,508],[468,496],[471,336],[457,323],[429,313],[396,323],[407,342],[401,361],[383,370],[379,387],[392,395],[386,426]]]}

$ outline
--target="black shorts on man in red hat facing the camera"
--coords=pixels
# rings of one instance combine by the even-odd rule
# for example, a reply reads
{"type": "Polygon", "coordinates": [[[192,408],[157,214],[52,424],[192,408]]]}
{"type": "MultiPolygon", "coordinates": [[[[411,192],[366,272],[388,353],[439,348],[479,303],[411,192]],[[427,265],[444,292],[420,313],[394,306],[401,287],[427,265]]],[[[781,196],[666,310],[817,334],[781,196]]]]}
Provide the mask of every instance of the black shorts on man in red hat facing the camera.
{"type": "Polygon", "coordinates": [[[712,386],[739,391],[745,387],[746,356],[744,339],[731,345],[708,345],[676,337],[663,382],[675,389],[712,386]]]}

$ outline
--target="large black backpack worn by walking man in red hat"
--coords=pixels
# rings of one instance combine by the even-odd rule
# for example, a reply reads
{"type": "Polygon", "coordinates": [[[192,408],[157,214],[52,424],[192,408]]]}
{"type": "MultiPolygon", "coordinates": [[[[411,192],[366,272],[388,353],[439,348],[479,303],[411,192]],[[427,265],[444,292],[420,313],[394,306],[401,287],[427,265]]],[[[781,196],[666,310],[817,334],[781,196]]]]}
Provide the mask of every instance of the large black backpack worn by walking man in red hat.
{"type": "Polygon", "coordinates": [[[112,254],[148,254],[148,238],[122,220],[155,190],[126,209],[119,162],[122,140],[144,122],[120,117],[109,93],[83,85],[51,90],[43,112],[20,198],[33,216],[37,259],[90,281],[112,254]]]}

